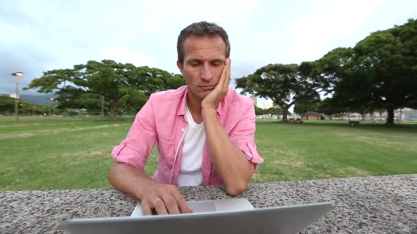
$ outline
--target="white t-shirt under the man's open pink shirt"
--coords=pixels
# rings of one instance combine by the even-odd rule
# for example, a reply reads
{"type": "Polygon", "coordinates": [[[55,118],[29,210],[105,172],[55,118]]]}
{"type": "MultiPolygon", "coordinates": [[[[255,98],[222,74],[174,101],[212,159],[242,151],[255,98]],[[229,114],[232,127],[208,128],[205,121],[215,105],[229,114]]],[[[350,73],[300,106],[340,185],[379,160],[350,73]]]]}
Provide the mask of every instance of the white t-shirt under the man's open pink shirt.
{"type": "Polygon", "coordinates": [[[200,186],[203,182],[201,166],[206,132],[203,122],[200,124],[194,122],[188,105],[185,119],[188,122],[188,127],[184,135],[178,186],[200,186]]]}

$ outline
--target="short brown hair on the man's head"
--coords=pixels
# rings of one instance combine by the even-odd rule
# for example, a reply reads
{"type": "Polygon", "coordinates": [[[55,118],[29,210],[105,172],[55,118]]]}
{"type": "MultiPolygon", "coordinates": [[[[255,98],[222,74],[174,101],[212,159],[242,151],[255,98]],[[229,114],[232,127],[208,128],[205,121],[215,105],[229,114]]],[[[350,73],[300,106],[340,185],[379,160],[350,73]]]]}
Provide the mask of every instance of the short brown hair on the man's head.
{"type": "Polygon", "coordinates": [[[183,44],[185,39],[189,36],[220,36],[224,44],[226,44],[226,57],[230,56],[230,42],[226,31],[216,23],[207,23],[206,21],[200,21],[198,23],[192,23],[191,25],[185,27],[180,32],[180,36],[178,36],[177,41],[177,53],[178,53],[178,61],[181,63],[184,62],[184,51],[183,51],[183,44]]]}

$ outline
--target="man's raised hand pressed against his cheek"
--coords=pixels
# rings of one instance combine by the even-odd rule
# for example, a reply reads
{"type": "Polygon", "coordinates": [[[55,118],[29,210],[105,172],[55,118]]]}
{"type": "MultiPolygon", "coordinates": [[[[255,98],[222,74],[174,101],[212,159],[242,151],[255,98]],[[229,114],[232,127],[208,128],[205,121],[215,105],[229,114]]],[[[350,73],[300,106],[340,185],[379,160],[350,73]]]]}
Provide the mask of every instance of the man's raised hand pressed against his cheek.
{"type": "Polygon", "coordinates": [[[226,96],[230,83],[230,57],[226,58],[217,86],[203,99],[202,109],[217,109],[226,96]]]}

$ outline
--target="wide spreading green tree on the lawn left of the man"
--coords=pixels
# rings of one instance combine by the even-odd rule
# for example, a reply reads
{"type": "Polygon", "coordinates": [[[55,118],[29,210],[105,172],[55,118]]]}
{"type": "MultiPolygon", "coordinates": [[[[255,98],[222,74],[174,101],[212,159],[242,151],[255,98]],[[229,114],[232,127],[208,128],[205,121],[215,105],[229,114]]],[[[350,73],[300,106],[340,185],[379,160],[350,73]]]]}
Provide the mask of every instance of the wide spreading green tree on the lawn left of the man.
{"type": "Polygon", "coordinates": [[[140,109],[143,96],[184,84],[182,76],[165,70],[102,60],[75,65],[73,69],[47,71],[43,77],[32,80],[25,89],[38,88],[39,92],[46,93],[56,91],[61,106],[97,107],[99,97],[104,96],[109,105],[110,119],[115,120],[119,101],[127,105],[141,96],[140,105],[134,107],[140,109]]]}

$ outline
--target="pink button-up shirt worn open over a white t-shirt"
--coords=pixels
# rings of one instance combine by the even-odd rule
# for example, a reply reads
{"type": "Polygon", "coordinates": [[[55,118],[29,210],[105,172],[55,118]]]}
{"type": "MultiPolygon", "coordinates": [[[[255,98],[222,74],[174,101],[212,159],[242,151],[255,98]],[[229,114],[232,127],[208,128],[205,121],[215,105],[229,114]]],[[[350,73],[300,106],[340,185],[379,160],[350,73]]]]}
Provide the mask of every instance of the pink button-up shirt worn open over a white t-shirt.
{"type": "MultiPolygon", "coordinates": [[[[158,143],[158,169],[154,180],[177,185],[181,170],[182,146],[187,121],[184,118],[187,86],[176,90],[157,92],[136,114],[126,139],[113,148],[115,161],[130,164],[143,171],[147,157],[158,143]]],[[[235,146],[257,168],[263,159],[254,142],[255,112],[252,99],[241,96],[233,88],[217,108],[217,117],[235,146]]],[[[227,157],[227,155],[224,155],[227,157]]],[[[222,185],[223,181],[211,161],[207,142],[202,159],[203,185],[222,185]]]]}

